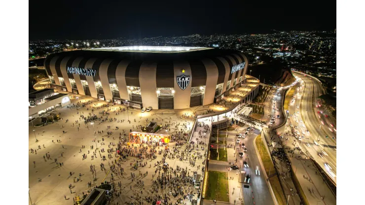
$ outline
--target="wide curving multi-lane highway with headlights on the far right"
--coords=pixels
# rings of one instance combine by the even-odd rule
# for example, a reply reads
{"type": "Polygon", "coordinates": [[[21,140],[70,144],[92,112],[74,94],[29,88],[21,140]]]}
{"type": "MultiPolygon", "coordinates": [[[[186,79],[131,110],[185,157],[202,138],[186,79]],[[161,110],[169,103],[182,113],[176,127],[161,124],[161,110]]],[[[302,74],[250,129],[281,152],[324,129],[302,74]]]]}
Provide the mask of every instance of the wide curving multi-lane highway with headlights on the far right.
{"type": "Polygon", "coordinates": [[[322,86],[310,76],[295,75],[302,80],[294,95],[287,96],[292,98],[289,113],[286,113],[290,117],[288,124],[301,138],[296,137],[303,151],[312,156],[336,183],[336,124],[325,116],[329,113],[318,103],[318,97],[323,94],[322,86]]]}

